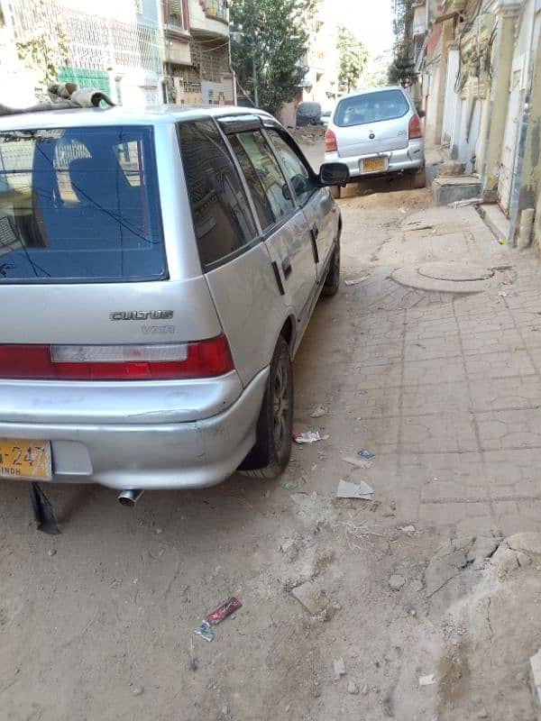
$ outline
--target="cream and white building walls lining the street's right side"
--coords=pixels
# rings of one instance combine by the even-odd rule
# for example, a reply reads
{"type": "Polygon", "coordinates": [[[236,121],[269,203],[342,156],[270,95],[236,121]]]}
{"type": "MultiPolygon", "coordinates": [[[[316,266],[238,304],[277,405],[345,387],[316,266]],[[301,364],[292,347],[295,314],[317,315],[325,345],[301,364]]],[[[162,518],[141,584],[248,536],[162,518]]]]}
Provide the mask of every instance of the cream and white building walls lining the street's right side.
{"type": "Polygon", "coordinates": [[[525,242],[533,209],[529,238],[541,248],[541,0],[449,0],[444,9],[430,10],[421,68],[426,143],[480,176],[485,200],[509,215],[510,242],[525,242]]]}

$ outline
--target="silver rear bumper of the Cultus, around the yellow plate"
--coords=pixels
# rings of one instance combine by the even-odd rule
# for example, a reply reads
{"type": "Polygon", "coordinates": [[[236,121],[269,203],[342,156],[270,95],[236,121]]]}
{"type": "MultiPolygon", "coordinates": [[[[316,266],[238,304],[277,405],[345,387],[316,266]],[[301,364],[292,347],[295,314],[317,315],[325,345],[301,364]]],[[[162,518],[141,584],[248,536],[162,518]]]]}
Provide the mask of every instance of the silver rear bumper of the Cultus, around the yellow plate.
{"type": "Polygon", "coordinates": [[[218,415],[191,423],[0,422],[0,437],[50,440],[53,481],[109,488],[204,488],[230,476],[255,443],[269,369],[218,415]]]}

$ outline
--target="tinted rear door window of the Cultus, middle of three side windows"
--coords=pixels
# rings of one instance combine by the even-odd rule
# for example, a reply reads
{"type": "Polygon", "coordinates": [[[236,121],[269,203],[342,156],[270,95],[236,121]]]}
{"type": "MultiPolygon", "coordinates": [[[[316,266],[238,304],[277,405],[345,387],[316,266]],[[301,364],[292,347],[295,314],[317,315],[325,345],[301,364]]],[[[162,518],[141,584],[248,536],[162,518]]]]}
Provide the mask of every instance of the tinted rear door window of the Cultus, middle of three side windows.
{"type": "Polygon", "coordinates": [[[259,131],[229,136],[252,193],[261,228],[280,221],[293,210],[289,187],[271,147],[259,131]]]}

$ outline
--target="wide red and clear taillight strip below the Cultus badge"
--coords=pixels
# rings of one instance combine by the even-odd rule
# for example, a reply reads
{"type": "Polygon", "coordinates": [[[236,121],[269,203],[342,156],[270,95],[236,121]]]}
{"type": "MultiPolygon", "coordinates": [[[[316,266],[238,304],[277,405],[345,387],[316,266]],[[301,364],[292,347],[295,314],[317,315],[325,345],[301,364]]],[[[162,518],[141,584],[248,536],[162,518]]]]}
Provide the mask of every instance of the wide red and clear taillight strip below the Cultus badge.
{"type": "Polygon", "coordinates": [[[225,335],[162,345],[0,345],[3,379],[196,379],[233,369],[225,335]]]}

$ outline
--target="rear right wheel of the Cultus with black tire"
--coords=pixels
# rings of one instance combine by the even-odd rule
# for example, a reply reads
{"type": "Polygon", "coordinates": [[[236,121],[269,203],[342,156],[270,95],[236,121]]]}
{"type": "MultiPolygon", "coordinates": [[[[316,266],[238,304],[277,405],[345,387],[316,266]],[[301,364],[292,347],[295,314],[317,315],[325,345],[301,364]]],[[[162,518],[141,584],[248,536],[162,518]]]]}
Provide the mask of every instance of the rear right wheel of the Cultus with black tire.
{"type": "Polygon", "coordinates": [[[280,336],[274,349],[257,422],[256,442],[240,469],[244,475],[275,479],[289,463],[293,434],[293,368],[289,345],[280,336]]]}

